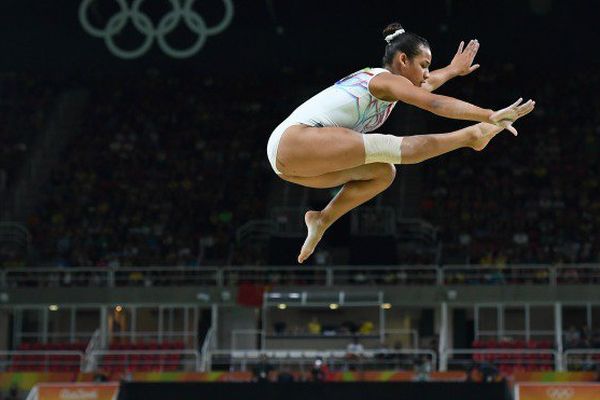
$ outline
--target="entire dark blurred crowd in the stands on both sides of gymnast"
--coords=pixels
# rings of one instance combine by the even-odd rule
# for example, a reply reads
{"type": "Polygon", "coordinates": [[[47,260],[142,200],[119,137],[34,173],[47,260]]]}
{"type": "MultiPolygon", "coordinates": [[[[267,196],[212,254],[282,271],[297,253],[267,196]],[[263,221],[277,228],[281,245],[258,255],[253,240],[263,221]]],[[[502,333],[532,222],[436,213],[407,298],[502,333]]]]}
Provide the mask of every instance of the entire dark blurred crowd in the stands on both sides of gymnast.
{"type": "MultiPolygon", "coordinates": [[[[81,81],[90,92],[82,134],[27,221],[32,257],[19,263],[7,255],[2,264],[268,264],[257,246],[235,247],[236,232],[268,215],[276,179],[265,156],[269,133],[329,82],[322,73],[309,83],[297,74],[242,81],[148,70],[81,81]]],[[[519,74],[510,64],[482,68],[439,91],[492,108],[527,96],[537,107],[517,123],[518,137],[502,133],[481,153],[464,149],[423,164],[419,217],[439,228],[443,245],[441,260],[431,262],[500,270],[600,258],[600,78],[586,70],[568,80],[548,71],[519,74]]],[[[1,82],[0,191],[14,180],[57,93],[56,84],[28,75],[1,82]]],[[[427,121],[427,132],[465,125],[427,121]]]]}

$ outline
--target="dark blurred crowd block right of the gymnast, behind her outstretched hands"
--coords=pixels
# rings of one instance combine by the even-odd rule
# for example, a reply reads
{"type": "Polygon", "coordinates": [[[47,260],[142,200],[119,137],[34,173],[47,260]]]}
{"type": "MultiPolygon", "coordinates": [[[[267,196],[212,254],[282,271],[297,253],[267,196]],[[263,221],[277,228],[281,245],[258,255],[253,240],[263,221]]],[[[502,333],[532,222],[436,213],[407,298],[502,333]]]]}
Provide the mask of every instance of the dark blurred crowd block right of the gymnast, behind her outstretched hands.
{"type": "Polygon", "coordinates": [[[524,79],[507,64],[440,90],[496,109],[518,97],[537,100],[515,125],[517,137],[503,132],[481,153],[465,149],[426,164],[421,214],[441,230],[443,264],[600,259],[600,78],[589,68],[529,71],[524,79]]]}

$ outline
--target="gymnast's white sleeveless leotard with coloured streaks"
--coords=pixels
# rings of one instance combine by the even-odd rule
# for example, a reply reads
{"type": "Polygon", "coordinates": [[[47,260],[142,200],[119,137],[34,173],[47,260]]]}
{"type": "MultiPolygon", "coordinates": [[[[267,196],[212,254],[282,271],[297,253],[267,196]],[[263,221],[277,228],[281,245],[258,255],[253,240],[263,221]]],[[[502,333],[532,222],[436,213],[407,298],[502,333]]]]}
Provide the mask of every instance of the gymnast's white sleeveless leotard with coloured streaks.
{"type": "Polygon", "coordinates": [[[389,117],[396,102],[376,98],[369,91],[369,82],[384,68],[365,68],[340,79],[301,104],[271,134],[267,155],[276,168],[277,147],[283,132],[292,125],[332,126],[366,133],[379,128],[389,117]]]}

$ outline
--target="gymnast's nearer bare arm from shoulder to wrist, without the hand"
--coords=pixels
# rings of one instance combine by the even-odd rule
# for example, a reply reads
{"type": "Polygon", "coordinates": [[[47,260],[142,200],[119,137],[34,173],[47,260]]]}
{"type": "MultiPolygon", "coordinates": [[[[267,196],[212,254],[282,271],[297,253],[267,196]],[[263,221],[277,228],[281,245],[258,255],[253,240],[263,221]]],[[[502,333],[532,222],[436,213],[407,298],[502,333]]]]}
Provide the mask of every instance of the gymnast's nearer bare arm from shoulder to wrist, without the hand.
{"type": "Polygon", "coordinates": [[[369,89],[382,100],[401,101],[442,117],[493,123],[490,120],[493,110],[453,97],[433,94],[400,75],[379,74],[371,80],[369,89]]]}

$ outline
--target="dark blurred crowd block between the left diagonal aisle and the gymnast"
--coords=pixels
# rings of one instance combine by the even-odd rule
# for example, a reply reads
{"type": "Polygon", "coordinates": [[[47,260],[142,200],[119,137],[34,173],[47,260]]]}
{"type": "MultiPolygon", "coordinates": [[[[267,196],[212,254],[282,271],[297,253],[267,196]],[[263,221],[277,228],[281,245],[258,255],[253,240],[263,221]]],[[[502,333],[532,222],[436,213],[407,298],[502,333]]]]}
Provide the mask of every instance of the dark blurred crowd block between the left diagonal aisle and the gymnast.
{"type": "Polygon", "coordinates": [[[236,229],[264,212],[272,110],[258,80],[218,82],[150,70],[86,83],[83,133],[28,221],[38,264],[232,262],[236,229]]]}

